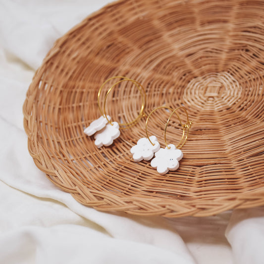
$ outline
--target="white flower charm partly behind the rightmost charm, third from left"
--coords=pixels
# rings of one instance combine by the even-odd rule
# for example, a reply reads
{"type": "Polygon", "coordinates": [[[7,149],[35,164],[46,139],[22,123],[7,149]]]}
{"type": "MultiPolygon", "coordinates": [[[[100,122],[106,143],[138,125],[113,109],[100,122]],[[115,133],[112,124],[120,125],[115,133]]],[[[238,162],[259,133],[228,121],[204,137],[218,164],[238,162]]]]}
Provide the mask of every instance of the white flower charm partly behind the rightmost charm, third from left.
{"type": "Polygon", "coordinates": [[[133,158],[136,162],[141,161],[142,159],[150,160],[154,153],[157,152],[160,148],[157,137],[151,136],[151,142],[147,138],[141,138],[138,140],[137,145],[133,146],[130,152],[133,154],[133,158]]]}

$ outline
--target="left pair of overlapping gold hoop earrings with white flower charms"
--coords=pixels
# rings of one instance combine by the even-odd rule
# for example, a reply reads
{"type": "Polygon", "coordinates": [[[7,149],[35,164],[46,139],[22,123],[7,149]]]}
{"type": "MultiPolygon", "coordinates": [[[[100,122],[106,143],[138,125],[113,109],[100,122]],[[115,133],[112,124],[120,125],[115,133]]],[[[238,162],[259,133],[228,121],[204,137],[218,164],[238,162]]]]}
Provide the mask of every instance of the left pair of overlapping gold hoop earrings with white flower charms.
{"type": "Polygon", "coordinates": [[[94,120],[85,130],[84,133],[88,136],[92,136],[94,135],[95,138],[95,145],[98,148],[101,148],[102,146],[110,146],[113,143],[113,140],[115,140],[116,138],[119,137],[120,135],[120,130],[119,129],[124,129],[124,128],[128,128],[131,127],[133,125],[135,125],[140,118],[142,118],[144,116],[144,108],[146,105],[146,92],[143,88],[143,86],[132,79],[129,79],[127,77],[123,77],[123,76],[114,76],[111,77],[109,79],[107,79],[102,86],[99,89],[98,92],[98,96],[97,96],[97,103],[98,103],[98,108],[99,111],[101,112],[101,116],[94,120]],[[101,97],[101,92],[103,87],[106,85],[107,82],[109,82],[112,79],[116,79],[116,78],[122,78],[121,80],[119,80],[118,82],[114,83],[107,91],[106,96],[104,98],[104,103],[103,103],[103,109],[100,106],[100,97],[101,97]],[[128,123],[118,123],[115,121],[110,121],[111,117],[109,115],[106,114],[106,99],[107,96],[109,95],[109,93],[112,91],[112,89],[119,85],[122,82],[125,81],[130,81],[132,82],[134,85],[136,85],[137,89],[140,91],[141,93],[141,97],[142,97],[142,105],[141,105],[141,109],[140,109],[140,113],[139,115],[131,122],[128,123]]]}

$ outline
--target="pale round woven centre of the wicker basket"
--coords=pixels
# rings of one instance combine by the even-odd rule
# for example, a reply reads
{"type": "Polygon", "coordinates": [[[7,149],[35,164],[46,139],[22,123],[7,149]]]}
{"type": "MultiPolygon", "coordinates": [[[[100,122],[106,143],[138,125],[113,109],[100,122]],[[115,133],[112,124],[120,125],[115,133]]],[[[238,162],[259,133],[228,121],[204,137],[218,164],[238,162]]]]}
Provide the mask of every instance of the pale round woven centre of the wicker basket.
{"type": "Polygon", "coordinates": [[[192,79],[184,90],[183,99],[193,107],[210,106],[223,110],[235,104],[241,92],[239,82],[231,74],[211,72],[192,79]],[[221,104],[216,104],[216,102],[221,102],[221,104]]]}

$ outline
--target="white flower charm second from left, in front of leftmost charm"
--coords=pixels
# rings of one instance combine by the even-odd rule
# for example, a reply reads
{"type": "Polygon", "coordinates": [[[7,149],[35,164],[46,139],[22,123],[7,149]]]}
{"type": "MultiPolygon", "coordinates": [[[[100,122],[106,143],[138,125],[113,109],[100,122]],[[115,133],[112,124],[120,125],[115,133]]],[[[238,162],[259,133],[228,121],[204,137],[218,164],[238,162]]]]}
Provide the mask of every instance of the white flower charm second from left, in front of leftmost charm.
{"type": "Polygon", "coordinates": [[[117,122],[106,124],[105,128],[95,134],[95,145],[98,148],[104,146],[110,146],[113,140],[118,138],[120,135],[119,125],[117,122]]]}

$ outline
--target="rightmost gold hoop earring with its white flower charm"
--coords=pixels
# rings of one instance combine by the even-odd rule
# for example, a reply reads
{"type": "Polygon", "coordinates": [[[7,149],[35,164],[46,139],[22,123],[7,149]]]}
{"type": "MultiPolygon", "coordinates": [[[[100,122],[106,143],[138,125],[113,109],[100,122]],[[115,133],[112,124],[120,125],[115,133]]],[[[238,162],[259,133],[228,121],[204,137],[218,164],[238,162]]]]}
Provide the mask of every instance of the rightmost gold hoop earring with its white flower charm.
{"type": "Polygon", "coordinates": [[[169,170],[174,171],[179,167],[179,160],[183,158],[183,153],[180,149],[183,147],[183,145],[187,140],[191,126],[192,126],[192,122],[189,121],[188,113],[184,107],[178,107],[172,111],[172,113],[170,114],[167,120],[164,130],[164,141],[166,147],[159,149],[158,152],[155,153],[155,158],[153,158],[151,161],[151,166],[157,168],[159,174],[161,175],[166,174],[169,170]],[[187,115],[186,124],[182,123],[179,115],[176,112],[179,109],[183,109],[186,112],[187,115]],[[168,145],[166,141],[167,126],[174,113],[177,115],[183,130],[181,140],[176,147],[173,144],[168,145]]]}

